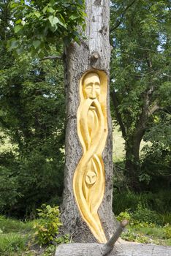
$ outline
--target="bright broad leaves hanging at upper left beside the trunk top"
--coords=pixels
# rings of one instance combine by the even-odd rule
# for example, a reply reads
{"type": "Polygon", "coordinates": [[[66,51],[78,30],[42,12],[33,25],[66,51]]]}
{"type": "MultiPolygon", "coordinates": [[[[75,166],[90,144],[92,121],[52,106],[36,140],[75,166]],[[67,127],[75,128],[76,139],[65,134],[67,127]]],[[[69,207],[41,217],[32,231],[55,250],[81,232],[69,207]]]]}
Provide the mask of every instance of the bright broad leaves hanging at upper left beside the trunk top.
{"type": "Polygon", "coordinates": [[[84,28],[83,0],[12,1],[12,22],[15,37],[9,41],[9,49],[20,54],[28,51],[39,56],[50,50],[50,45],[79,42],[77,26],[84,28]]]}

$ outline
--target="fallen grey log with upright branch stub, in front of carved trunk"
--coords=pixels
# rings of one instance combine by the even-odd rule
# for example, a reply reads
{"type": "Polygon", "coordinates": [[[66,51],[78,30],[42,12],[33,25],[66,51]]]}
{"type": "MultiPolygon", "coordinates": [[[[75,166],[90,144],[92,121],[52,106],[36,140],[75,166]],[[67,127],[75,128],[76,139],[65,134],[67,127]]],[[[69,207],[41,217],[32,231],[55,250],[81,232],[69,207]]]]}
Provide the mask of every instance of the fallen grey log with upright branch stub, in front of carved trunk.
{"type": "Polygon", "coordinates": [[[61,244],[55,256],[171,256],[171,246],[117,241],[127,224],[124,219],[106,244],[61,244]]]}

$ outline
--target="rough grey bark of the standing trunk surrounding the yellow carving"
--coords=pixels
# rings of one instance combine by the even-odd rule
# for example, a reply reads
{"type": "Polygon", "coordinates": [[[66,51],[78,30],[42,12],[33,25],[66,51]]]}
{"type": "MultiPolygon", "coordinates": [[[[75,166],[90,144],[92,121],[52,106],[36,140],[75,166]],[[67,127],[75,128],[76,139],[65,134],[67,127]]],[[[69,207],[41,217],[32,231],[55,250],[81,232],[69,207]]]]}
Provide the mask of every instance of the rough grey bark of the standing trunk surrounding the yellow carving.
{"type": "MultiPolygon", "coordinates": [[[[80,104],[79,81],[81,76],[90,69],[104,70],[109,76],[110,43],[109,43],[109,0],[86,1],[86,40],[72,43],[66,49],[66,166],[64,173],[64,201],[62,221],[64,232],[72,234],[76,242],[94,242],[88,226],[80,217],[73,194],[73,175],[83,154],[77,137],[77,108],[80,104]]],[[[109,82],[109,81],[108,81],[109,82]]],[[[112,160],[112,125],[109,106],[109,86],[107,89],[108,136],[102,154],[105,170],[105,193],[99,208],[99,217],[104,233],[109,236],[115,231],[117,222],[113,218],[113,160],[112,160]]],[[[74,252],[73,252],[74,253],[74,252]]],[[[64,254],[65,255],[65,254],[64,254]]],[[[73,254],[74,255],[74,254],[73,254]]]]}

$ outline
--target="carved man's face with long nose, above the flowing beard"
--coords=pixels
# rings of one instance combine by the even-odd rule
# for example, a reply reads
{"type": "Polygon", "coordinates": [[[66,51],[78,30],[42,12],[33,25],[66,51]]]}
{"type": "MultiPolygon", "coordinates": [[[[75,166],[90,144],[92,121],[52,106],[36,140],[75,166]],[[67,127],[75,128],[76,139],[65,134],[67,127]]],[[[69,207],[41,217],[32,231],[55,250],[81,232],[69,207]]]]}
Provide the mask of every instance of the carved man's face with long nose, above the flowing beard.
{"type": "Polygon", "coordinates": [[[86,99],[98,99],[100,94],[100,80],[96,73],[88,73],[83,80],[83,94],[86,99]]]}

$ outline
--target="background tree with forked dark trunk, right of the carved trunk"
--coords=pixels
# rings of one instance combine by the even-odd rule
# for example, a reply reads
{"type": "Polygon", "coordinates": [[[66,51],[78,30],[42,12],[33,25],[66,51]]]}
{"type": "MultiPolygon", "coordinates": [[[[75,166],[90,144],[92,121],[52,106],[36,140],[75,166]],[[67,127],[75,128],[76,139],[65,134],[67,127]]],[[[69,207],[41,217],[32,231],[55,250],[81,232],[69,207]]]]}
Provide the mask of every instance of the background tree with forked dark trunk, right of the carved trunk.
{"type": "Polygon", "coordinates": [[[113,1],[110,31],[115,118],[125,139],[126,176],[139,190],[140,143],[156,113],[169,114],[170,1],[113,1]]]}

